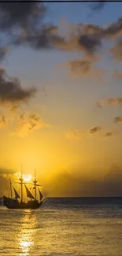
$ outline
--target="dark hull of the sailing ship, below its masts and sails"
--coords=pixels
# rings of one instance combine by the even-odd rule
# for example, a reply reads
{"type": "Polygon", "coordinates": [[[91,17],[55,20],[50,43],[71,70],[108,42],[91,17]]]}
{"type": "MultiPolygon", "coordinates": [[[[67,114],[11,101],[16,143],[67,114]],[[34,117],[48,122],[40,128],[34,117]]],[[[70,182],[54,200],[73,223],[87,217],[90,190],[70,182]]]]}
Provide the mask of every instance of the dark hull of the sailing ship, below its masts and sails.
{"type": "Polygon", "coordinates": [[[43,205],[43,201],[28,201],[28,202],[19,202],[13,198],[6,198],[3,197],[3,205],[6,206],[8,209],[38,209],[40,206],[43,205]]]}

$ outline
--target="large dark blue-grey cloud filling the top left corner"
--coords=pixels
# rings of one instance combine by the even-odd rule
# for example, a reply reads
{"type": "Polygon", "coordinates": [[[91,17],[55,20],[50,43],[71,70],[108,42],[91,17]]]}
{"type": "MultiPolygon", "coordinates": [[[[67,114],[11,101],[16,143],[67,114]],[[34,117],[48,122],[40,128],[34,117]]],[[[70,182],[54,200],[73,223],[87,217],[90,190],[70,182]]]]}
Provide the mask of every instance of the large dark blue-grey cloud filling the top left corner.
{"type": "Polygon", "coordinates": [[[0,29],[7,32],[10,46],[25,44],[41,50],[58,40],[57,27],[43,22],[46,6],[42,2],[1,2],[0,14],[0,29]]]}

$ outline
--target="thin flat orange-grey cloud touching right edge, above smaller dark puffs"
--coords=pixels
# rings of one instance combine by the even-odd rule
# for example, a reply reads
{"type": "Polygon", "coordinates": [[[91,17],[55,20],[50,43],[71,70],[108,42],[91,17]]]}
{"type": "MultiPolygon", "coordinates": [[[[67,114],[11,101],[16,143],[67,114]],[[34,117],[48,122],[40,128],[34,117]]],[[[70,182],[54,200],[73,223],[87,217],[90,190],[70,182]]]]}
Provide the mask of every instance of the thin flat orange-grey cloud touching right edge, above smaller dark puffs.
{"type": "Polygon", "coordinates": [[[106,98],[105,100],[97,102],[98,107],[102,106],[116,106],[116,105],[122,105],[122,97],[117,98],[106,98]]]}

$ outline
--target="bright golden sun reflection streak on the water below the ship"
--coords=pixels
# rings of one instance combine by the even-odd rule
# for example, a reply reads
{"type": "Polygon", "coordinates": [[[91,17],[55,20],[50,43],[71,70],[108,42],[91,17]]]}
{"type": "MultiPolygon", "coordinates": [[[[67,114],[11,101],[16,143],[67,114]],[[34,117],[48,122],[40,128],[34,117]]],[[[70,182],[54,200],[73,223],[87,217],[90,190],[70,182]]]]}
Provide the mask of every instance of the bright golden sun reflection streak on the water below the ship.
{"type": "Polygon", "coordinates": [[[18,237],[19,256],[29,256],[35,245],[35,228],[38,221],[30,210],[24,211],[21,218],[20,232],[18,237]]]}

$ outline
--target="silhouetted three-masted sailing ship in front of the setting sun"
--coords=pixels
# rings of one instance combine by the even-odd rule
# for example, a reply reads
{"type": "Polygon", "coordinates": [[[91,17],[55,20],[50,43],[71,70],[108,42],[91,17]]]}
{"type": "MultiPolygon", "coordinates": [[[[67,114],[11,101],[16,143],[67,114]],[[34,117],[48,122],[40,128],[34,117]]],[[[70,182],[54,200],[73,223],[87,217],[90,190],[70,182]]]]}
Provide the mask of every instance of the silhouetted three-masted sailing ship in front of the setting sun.
{"type": "Polygon", "coordinates": [[[20,182],[16,182],[16,183],[20,184],[20,191],[21,191],[20,195],[18,194],[15,187],[12,186],[12,181],[9,180],[11,196],[10,197],[3,196],[3,205],[9,209],[38,209],[40,206],[42,206],[45,198],[43,198],[43,194],[39,190],[39,186],[41,185],[37,184],[36,177],[32,183],[26,183],[24,182],[24,179],[22,176],[22,170],[21,170],[21,175],[19,180],[20,182]],[[28,189],[27,184],[32,184],[34,186],[33,189],[35,190],[35,196],[31,194],[31,191],[28,189]],[[23,193],[24,187],[25,187],[27,197],[31,199],[28,202],[24,202],[24,193],[23,193]],[[37,200],[37,187],[39,191],[39,200],[37,200]],[[14,198],[13,198],[13,191],[15,195],[14,198]]]}

